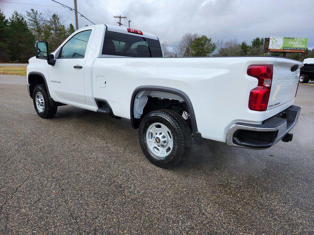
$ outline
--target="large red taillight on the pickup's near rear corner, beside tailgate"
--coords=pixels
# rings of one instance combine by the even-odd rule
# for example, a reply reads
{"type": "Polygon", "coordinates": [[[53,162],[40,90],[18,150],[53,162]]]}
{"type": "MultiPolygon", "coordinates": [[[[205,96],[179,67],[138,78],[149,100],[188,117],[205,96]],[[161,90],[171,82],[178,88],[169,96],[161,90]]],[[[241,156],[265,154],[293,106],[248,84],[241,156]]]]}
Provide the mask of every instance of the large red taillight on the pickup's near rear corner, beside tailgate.
{"type": "Polygon", "coordinates": [[[254,111],[265,111],[267,109],[271,80],[273,78],[272,65],[250,65],[247,74],[256,77],[258,86],[251,90],[249,97],[249,109],[254,111]]]}

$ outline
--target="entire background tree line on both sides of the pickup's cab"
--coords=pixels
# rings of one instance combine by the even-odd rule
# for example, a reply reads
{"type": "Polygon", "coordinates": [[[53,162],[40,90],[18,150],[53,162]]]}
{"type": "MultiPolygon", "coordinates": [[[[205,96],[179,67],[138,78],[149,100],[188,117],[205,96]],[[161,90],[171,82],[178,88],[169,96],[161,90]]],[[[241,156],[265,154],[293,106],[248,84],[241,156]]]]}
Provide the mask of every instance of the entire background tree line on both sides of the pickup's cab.
{"type": "MultiPolygon", "coordinates": [[[[55,50],[75,31],[72,24],[66,27],[64,22],[58,13],[43,14],[34,9],[26,11],[25,16],[14,11],[6,19],[0,9],[0,62],[27,62],[34,56],[36,40],[47,41],[50,50],[55,50]]],[[[237,39],[226,42],[221,39],[214,43],[205,35],[186,33],[173,50],[166,43],[162,44],[162,48],[166,57],[266,55],[263,44],[264,40],[258,37],[249,45],[245,41],[239,43],[237,39]]],[[[282,53],[268,55],[282,56],[282,53]]],[[[287,57],[300,61],[314,58],[314,49],[306,49],[305,53],[288,53],[287,57]]]]}

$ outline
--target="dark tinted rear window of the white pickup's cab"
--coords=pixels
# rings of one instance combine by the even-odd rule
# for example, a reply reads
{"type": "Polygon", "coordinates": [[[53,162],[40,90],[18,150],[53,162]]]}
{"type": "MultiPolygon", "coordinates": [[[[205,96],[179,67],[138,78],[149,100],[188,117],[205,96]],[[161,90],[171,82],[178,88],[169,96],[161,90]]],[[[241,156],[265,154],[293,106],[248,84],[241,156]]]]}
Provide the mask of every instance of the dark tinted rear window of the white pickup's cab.
{"type": "Polygon", "coordinates": [[[162,50],[156,39],[106,31],[102,54],[125,57],[162,57],[162,50]]]}

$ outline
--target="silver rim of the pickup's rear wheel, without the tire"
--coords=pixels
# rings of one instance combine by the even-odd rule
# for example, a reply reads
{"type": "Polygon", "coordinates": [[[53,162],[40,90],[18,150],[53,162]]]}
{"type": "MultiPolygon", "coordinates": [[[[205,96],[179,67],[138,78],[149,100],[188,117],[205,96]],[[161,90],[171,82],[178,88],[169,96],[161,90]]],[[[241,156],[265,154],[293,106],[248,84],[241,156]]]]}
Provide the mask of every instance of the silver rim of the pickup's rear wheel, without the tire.
{"type": "Polygon", "coordinates": [[[155,122],[146,131],[146,143],[157,157],[165,158],[172,151],[173,136],[166,125],[155,122]]]}

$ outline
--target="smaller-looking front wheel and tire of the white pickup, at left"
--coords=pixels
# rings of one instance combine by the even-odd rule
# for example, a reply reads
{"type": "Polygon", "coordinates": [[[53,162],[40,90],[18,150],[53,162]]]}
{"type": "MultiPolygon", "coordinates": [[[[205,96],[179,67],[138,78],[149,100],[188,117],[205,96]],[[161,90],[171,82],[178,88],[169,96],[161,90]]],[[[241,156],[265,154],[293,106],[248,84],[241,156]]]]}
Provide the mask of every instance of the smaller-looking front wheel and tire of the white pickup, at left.
{"type": "Polygon", "coordinates": [[[58,106],[51,105],[45,85],[37,85],[33,92],[33,103],[35,110],[41,118],[53,118],[58,106]]]}

